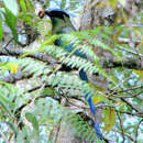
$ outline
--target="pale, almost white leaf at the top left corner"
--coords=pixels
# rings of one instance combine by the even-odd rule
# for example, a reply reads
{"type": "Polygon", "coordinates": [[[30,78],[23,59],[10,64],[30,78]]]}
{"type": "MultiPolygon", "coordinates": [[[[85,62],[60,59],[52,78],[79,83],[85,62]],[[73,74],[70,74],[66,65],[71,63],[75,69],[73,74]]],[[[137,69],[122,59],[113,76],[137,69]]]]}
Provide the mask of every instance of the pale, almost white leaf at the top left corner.
{"type": "Polygon", "coordinates": [[[15,16],[19,14],[19,7],[15,0],[3,0],[4,7],[9,9],[15,16]]]}

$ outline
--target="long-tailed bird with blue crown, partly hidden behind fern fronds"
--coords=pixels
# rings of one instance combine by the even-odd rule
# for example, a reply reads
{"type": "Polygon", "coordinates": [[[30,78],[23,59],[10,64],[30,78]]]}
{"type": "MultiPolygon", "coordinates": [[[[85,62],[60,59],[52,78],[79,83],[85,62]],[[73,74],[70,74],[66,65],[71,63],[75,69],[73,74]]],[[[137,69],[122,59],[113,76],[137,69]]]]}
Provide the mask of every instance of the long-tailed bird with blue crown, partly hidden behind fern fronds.
{"type": "MultiPolygon", "coordinates": [[[[45,14],[51,18],[52,34],[69,34],[72,32],[76,31],[75,26],[72,24],[69,14],[65,10],[62,10],[62,9],[50,9],[48,10],[47,9],[47,10],[45,10],[45,14]]],[[[55,41],[55,45],[64,46],[64,41],[62,41],[62,38],[59,37],[58,40],[55,41]]],[[[68,53],[70,53],[73,50],[74,50],[74,44],[69,44],[69,45],[65,46],[65,51],[67,51],[68,53]]],[[[78,50],[74,54],[76,56],[87,59],[87,55],[79,53],[78,50]]],[[[67,68],[67,70],[72,70],[72,68],[69,66],[67,66],[67,67],[65,66],[65,68],[67,68]]],[[[88,76],[87,76],[86,72],[84,72],[84,69],[79,70],[79,78],[86,82],[89,82],[88,76]]],[[[85,98],[88,101],[91,113],[94,116],[96,116],[96,108],[95,108],[95,105],[92,101],[92,97],[91,96],[89,97],[89,94],[86,94],[85,98]]],[[[99,124],[97,122],[95,122],[95,130],[96,130],[97,136],[100,140],[105,140],[105,138],[101,133],[101,130],[99,128],[99,124]]]]}

